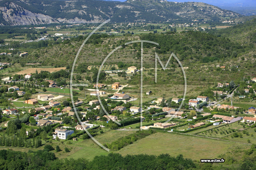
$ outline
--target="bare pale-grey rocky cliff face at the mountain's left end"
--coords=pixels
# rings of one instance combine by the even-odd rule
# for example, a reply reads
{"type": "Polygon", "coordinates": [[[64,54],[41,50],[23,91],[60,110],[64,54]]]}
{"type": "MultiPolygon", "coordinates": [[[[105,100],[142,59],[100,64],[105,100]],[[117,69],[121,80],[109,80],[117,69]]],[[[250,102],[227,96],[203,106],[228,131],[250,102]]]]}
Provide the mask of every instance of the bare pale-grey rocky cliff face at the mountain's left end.
{"type": "MultiPolygon", "coordinates": [[[[2,20],[10,25],[27,25],[27,24],[49,24],[59,22],[55,18],[48,15],[33,13],[13,2],[9,4],[9,8],[0,7],[2,20]]],[[[4,25],[4,23],[0,23],[4,25]]]]}

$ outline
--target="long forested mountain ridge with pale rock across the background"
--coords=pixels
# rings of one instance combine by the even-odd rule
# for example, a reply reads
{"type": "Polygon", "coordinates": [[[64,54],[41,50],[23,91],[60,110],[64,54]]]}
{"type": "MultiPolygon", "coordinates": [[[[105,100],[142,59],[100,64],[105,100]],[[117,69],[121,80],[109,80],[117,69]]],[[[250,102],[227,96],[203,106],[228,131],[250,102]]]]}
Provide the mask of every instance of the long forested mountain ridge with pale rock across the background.
{"type": "Polygon", "coordinates": [[[190,22],[197,19],[219,22],[240,17],[236,12],[222,10],[198,2],[168,2],[162,0],[3,0],[0,1],[0,25],[49,23],[111,22],[190,22]]]}

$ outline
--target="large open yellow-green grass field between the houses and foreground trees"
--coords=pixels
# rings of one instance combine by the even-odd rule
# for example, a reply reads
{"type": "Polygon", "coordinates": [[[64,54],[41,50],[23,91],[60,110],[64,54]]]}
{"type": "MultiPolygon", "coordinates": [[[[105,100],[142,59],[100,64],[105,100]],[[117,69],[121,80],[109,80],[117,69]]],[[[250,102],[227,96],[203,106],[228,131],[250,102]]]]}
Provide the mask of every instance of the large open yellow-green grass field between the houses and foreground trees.
{"type": "Polygon", "coordinates": [[[221,153],[227,150],[241,147],[249,148],[249,145],[231,141],[221,141],[190,135],[175,133],[155,133],[128,145],[118,153],[127,154],[154,154],[168,153],[172,156],[183,154],[185,158],[193,160],[219,158],[221,153]]]}

